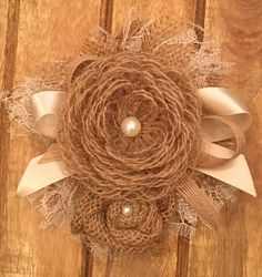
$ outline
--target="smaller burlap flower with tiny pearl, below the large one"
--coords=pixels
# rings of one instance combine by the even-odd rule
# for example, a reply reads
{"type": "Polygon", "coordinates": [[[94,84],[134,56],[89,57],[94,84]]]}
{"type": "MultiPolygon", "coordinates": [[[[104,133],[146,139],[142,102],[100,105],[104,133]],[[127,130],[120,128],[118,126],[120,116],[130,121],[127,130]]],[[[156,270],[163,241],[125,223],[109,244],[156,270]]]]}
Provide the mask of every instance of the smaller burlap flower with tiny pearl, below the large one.
{"type": "Polygon", "coordinates": [[[155,243],[175,207],[175,197],[158,202],[102,201],[83,187],[74,198],[72,233],[117,250],[143,252],[155,243]],[[129,207],[129,214],[124,208],[129,207]]]}

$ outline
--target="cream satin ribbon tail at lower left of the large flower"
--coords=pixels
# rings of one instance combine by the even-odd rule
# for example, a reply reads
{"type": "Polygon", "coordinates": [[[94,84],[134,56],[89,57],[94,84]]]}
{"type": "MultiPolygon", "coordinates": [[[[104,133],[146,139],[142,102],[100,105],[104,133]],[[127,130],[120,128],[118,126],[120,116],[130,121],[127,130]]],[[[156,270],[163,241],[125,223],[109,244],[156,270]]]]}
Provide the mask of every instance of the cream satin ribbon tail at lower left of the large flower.
{"type": "Polygon", "coordinates": [[[30,195],[70,176],[70,173],[64,168],[62,161],[40,163],[42,156],[43,155],[37,156],[29,162],[19,183],[17,189],[18,195],[30,195]]]}

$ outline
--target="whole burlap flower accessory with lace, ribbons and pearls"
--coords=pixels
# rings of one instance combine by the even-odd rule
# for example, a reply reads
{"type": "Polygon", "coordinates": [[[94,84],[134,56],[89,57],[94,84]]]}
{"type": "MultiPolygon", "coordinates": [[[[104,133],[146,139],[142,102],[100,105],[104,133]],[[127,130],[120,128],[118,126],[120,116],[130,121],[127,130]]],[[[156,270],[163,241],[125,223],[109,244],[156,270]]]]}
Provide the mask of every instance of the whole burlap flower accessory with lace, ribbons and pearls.
{"type": "Polygon", "coordinates": [[[4,94],[11,120],[48,137],[18,187],[42,226],[143,252],[164,230],[216,228],[238,189],[255,196],[241,154],[251,115],[221,88],[229,64],[201,35],[189,23],[128,20],[4,94]]]}

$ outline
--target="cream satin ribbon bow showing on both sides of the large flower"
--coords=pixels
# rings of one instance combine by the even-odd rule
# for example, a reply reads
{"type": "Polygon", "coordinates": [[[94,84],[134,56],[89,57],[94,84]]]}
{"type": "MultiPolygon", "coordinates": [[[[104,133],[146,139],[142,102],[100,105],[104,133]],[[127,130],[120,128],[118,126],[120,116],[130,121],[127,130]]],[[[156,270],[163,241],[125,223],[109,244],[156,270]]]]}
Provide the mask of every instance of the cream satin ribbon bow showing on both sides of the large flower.
{"type": "MultiPolygon", "coordinates": [[[[215,167],[196,170],[255,196],[253,179],[244,155],[236,153],[234,156],[234,152],[214,143],[234,137],[236,126],[242,131],[249,129],[252,117],[248,109],[234,93],[222,88],[203,88],[196,93],[202,101],[204,112],[212,114],[212,116],[204,116],[202,121],[202,151],[214,157],[226,160],[215,167]],[[218,116],[223,116],[225,120],[218,121],[218,116]],[[233,122],[235,127],[230,127],[226,119],[233,122]]],[[[64,98],[66,93],[59,91],[39,92],[33,95],[33,117],[36,127],[41,134],[56,137],[57,115],[64,98]]],[[[70,176],[59,153],[54,153],[48,151],[44,155],[31,160],[19,183],[19,195],[32,194],[70,176]]]]}

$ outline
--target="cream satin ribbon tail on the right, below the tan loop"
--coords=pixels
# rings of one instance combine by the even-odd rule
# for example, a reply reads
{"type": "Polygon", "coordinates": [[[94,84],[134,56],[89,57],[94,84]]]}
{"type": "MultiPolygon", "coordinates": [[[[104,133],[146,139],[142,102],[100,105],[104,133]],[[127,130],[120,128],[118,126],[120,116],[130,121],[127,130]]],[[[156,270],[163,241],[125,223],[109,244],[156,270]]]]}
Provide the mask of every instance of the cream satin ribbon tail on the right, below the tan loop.
{"type": "MultiPolygon", "coordinates": [[[[206,143],[203,151],[210,154],[215,153],[215,155],[222,154],[223,156],[232,154],[231,150],[214,143],[206,143]]],[[[248,194],[256,196],[253,178],[243,154],[240,154],[233,160],[229,160],[226,163],[223,163],[216,167],[196,170],[231,186],[234,186],[248,194]]]]}

